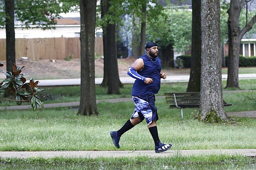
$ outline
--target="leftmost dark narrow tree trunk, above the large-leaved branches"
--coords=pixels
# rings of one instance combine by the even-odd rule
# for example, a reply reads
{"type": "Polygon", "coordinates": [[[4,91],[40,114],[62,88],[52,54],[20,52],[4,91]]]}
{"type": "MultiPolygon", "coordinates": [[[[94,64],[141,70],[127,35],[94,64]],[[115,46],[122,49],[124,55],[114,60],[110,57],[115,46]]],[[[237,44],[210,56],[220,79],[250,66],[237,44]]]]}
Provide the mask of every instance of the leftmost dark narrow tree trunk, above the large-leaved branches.
{"type": "Polygon", "coordinates": [[[15,64],[14,0],[5,0],[5,15],[6,70],[12,71],[15,64]]]}

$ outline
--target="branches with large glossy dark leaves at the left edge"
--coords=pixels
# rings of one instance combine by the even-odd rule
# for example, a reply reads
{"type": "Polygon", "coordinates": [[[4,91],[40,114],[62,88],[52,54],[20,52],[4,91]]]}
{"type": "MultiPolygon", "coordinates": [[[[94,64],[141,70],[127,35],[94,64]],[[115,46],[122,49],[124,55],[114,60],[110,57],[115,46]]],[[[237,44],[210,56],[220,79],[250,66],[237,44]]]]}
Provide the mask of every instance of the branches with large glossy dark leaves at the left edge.
{"type": "MultiPolygon", "coordinates": [[[[0,67],[2,66],[3,63],[0,62],[0,67]]],[[[6,73],[4,73],[6,78],[0,81],[0,94],[2,95],[6,92],[7,94],[14,96],[15,99],[1,96],[0,99],[14,101],[17,105],[20,105],[22,102],[28,102],[31,103],[33,111],[36,111],[38,106],[43,107],[43,102],[41,100],[43,96],[38,94],[38,92],[43,89],[38,88],[38,81],[34,81],[33,78],[29,80],[29,83],[26,83],[26,79],[21,73],[22,68],[24,68],[24,66],[19,67],[14,64],[13,71],[6,71],[6,73]]],[[[0,70],[0,72],[3,73],[2,70],[0,70]]]]}

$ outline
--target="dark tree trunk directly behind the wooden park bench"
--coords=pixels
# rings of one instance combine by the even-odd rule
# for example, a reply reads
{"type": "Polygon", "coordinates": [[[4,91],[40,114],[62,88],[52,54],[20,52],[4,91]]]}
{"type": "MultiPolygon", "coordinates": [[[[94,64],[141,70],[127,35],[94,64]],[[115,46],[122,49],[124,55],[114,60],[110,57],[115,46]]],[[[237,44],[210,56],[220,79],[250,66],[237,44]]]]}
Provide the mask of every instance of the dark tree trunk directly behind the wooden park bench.
{"type": "Polygon", "coordinates": [[[187,92],[200,91],[201,77],[201,0],[192,0],[191,66],[187,92]]]}

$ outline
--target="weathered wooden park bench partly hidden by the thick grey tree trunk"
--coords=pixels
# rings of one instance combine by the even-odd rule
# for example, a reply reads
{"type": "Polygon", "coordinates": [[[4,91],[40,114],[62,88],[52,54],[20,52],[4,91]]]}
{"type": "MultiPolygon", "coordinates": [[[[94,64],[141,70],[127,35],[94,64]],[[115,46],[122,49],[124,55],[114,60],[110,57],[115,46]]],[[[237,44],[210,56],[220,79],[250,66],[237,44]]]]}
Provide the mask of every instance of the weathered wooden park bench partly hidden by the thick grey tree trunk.
{"type": "MultiPolygon", "coordinates": [[[[181,119],[183,119],[183,108],[199,107],[200,105],[200,92],[174,92],[165,93],[165,100],[170,107],[180,109],[181,119]]],[[[223,101],[224,106],[231,106],[223,101]]]]}

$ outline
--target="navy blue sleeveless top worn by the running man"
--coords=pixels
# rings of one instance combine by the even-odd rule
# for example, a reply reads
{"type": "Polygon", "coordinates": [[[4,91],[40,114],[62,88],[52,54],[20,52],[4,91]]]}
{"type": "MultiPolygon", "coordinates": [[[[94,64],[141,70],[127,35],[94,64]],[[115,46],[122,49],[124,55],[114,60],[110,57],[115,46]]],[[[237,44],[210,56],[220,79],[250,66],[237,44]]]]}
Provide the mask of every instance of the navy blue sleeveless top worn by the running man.
{"type": "Polygon", "coordinates": [[[161,60],[158,57],[151,59],[146,54],[138,58],[143,59],[144,68],[137,71],[137,73],[143,77],[152,78],[153,82],[145,84],[143,81],[136,79],[131,90],[131,96],[157,94],[160,89],[161,60]]]}

